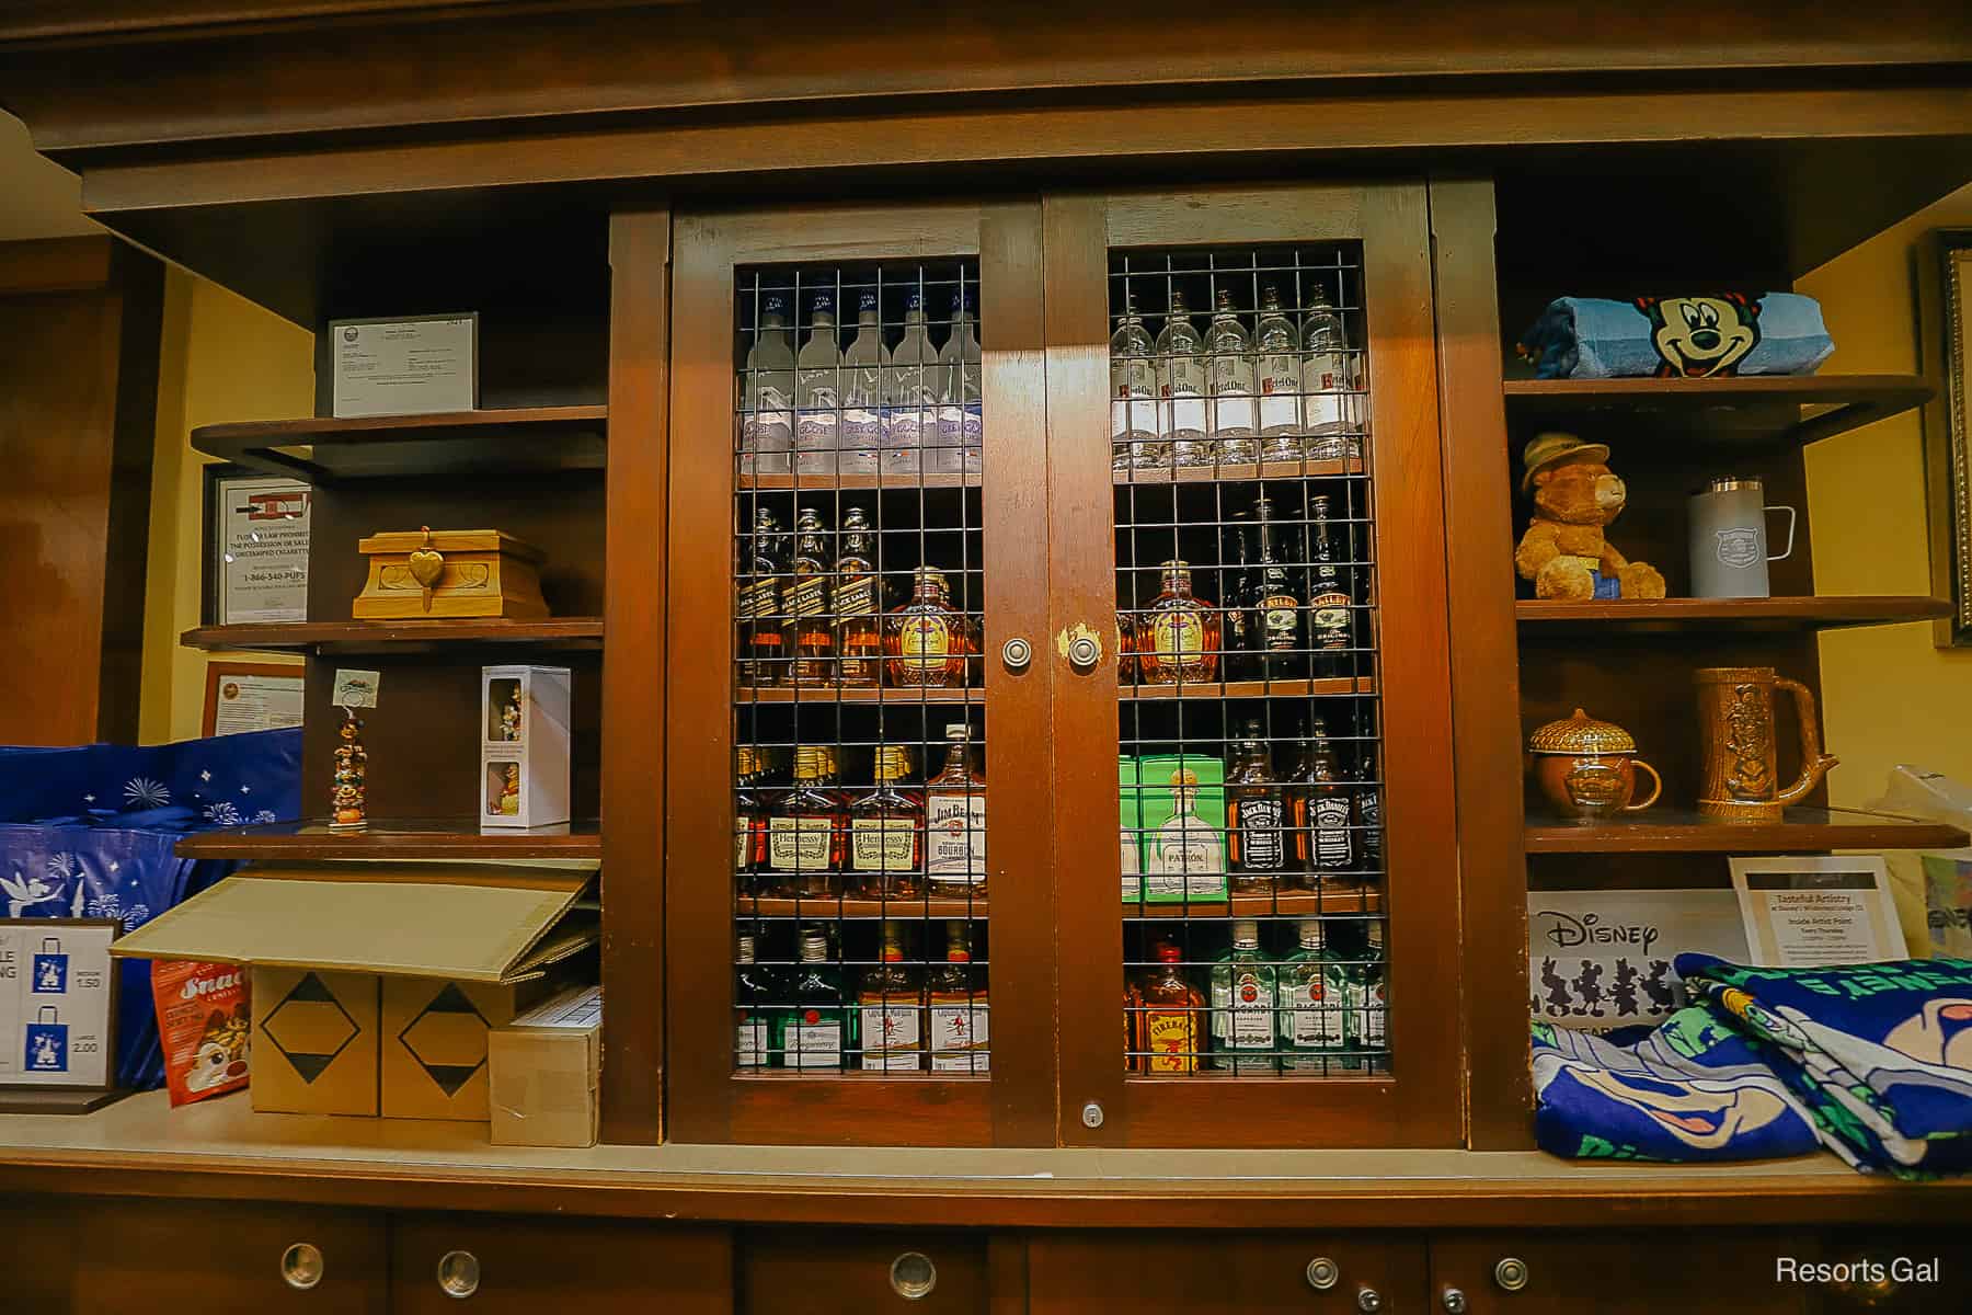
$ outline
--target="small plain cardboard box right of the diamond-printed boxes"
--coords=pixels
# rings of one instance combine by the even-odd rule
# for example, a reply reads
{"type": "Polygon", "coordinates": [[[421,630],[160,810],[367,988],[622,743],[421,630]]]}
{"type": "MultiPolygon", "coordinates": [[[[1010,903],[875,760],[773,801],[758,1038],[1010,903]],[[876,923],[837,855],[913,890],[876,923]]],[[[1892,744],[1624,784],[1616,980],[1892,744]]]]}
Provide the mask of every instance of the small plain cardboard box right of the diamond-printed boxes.
{"type": "Polygon", "coordinates": [[[493,1145],[596,1145],[603,992],[564,992],[487,1039],[493,1145]]]}

